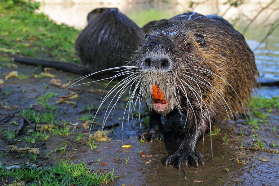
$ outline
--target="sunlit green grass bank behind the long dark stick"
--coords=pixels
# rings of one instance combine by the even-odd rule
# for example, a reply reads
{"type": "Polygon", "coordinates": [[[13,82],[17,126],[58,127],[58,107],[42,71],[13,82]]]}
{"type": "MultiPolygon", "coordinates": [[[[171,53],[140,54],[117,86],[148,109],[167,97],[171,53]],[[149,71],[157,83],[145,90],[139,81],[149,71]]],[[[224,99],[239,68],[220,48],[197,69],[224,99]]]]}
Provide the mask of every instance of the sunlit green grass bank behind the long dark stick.
{"type": "MultiPolygon", "coordinates": [[[[65,24],[55,24],[47,15],[35,13],[38,7],[38,2],[0,1],[0,51],[80,63],[73,47],[80,31],[65,24]]],[[[7,61],[2,57],[0,60],[7,61]]]]}

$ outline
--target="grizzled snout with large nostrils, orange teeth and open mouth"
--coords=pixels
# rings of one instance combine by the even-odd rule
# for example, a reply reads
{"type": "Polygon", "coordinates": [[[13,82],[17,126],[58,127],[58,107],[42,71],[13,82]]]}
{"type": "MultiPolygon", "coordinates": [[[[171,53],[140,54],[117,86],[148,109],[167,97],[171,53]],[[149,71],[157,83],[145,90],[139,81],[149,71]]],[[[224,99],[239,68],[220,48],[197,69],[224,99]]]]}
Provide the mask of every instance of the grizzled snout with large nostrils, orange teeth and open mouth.
{"type": "Polygon", "coordinates": [[[162,115],[169,113],[177,102],[172,68],[173,61],[162,48],[145,53],[139,65],[139,78],[145,85],[141,87],[144,101],[148,108],[162,115]]]}

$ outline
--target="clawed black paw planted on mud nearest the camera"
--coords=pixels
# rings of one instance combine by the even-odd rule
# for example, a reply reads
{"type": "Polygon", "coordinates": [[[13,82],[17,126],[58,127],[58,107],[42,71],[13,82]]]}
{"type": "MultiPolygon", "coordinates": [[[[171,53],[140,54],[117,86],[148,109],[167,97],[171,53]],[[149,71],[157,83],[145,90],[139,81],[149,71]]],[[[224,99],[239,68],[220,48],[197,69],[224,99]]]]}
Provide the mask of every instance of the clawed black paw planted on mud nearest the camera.
{"type": "Polygon", "coordinates": [[[200,163],[201,165],[204,164],[204,159],[201,155],[201,153],[199,152],[194,152],[194,151],[189,151],[189,150],[178,150],[176,151],[173,155],[169,156],[167,159],[166,159],[166,166],[169,164],[169,163],[172,163],[174,162],[174,160],[176,158],[179,158],[178,159],[178,170],[181,169],[181,164],[183,162],[193,162],[193,164],[198,167],[198,163],[200,163]]]}

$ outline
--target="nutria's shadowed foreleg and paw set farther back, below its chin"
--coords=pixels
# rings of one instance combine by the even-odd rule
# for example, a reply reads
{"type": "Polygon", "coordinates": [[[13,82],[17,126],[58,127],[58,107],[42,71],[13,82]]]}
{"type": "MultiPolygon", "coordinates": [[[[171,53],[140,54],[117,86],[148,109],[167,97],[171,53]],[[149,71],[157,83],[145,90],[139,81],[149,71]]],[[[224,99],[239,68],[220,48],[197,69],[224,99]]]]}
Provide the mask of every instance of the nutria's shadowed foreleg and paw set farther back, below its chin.
{"type": "Polygon", "coordinates": [[[164,140],[164,130],[161,122],[161,114],[151,111],[149,113],[149,131],[144,132],[139,136],[140,140],[149,139],[150,142],[154,140],[164,140]]]}

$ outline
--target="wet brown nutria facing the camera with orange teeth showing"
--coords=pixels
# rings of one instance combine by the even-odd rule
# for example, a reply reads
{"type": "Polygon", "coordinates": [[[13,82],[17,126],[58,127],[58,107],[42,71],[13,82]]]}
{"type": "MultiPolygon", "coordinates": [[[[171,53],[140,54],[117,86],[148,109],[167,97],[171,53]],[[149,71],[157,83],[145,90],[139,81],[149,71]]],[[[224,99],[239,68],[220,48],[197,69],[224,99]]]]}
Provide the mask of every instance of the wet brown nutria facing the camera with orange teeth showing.
{"type": "Polygon", "coordinates": [[[197,143],[215,120],[245,113],[259,76],[254,54],[242,34],[217,15],[187,12],[159,20],[149,30],[127,64],[130,73],[120,90],[133,90],[129,110],[142,100],[148,107],[150,130],[142,140],[163,137],[160,117],[179,112],[187,133],[165,165],[178,160],[179,170],[182,162],[197,167],[204,164],[197,143]]]}

